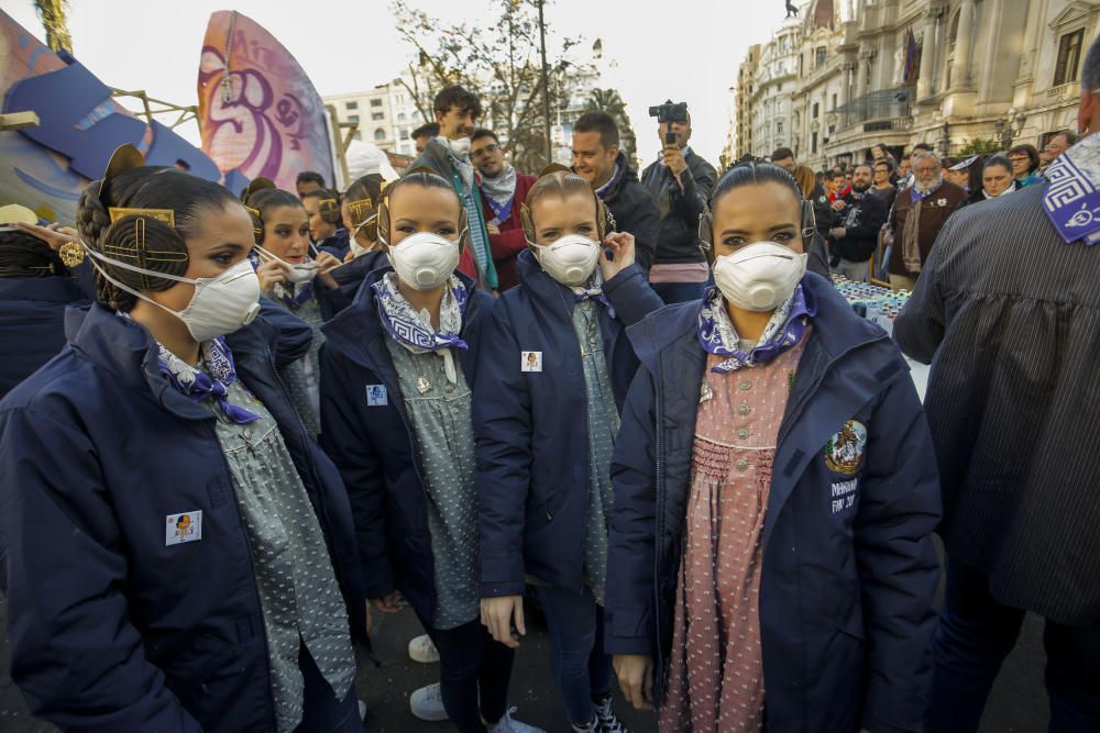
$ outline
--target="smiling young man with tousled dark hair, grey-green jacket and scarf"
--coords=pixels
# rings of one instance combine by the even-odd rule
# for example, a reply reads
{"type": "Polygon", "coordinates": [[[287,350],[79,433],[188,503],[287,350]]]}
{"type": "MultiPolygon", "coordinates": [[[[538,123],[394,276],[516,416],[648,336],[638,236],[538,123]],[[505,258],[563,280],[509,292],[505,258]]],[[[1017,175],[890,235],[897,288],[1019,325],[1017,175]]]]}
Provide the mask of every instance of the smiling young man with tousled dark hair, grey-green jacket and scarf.
{"type": "MultiPolygon", "coordinates": [[[[488,230],[477,189],[477,171],[470,159],[470,137],[481,116],[481,101],[462,87],[444,87],[436,95],[435,110],[439,135],[428,141],[424,153],[417,156],[408,170],[428,168],[451,181],[466,212],[470,226],[470,246],[466,251],[473,255],[475,271],[466,271],[463,263],[459,264],[459,269],[474,277],[486,290],[496,290],[496,267],[493,265],[488,230]]],[[[464,251],[464,257],[465,254],[464,251]]]]}

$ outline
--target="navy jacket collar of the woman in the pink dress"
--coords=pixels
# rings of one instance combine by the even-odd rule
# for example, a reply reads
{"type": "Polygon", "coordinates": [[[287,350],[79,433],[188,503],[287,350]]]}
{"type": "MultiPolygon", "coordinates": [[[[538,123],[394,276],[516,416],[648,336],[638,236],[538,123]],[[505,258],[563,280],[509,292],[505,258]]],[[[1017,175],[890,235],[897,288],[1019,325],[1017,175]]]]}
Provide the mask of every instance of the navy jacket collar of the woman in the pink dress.
{"type": "MultiPolygon", "coordinates": [[[[817,315],[811,322],[821,320],[833,324],[833,327],[813,330],[813,337],[818,340],[826,355],[843,354],[883,338],[882,330],[856,315],[832,282],[815,273],[806,273],[803,285],[817,301],[817,315]]],[[[631,326],[628,330],[630,343],[638,360],[656,369],[661,353],[672,344],[694,344],[694,351],[702,353],[696,338],[701,308],[700,301],[666,307],[631,326]]]]}

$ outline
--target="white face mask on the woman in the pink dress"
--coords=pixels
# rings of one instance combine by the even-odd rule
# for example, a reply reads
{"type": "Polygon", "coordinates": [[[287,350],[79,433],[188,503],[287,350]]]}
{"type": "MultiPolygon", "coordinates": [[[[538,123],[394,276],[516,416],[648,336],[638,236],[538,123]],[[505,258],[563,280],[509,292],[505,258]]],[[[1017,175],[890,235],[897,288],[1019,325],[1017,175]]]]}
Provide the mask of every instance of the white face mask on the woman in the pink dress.
{"type": "Polygon", "coordinates": [[[806,255],[777,242],[756,242],[714,260],[714,282],[734,306],[766,312],[791,297],[806,274],[806,255]]]}

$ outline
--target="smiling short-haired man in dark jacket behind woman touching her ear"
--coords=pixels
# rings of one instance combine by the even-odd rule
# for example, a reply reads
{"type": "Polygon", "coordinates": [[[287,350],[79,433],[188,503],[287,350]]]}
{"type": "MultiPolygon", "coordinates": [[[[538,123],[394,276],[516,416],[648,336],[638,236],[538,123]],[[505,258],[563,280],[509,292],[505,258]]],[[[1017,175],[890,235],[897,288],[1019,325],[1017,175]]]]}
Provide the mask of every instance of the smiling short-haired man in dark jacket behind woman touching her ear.
{"type": "Polygon", "coordinates": [[[634,234],[635,256],[646,275],[657,252],[657,202],[619,152],[618,127],[606,112],[573,123],[573,170],[588,181],[615,219],[615,231],[634,234]]]}

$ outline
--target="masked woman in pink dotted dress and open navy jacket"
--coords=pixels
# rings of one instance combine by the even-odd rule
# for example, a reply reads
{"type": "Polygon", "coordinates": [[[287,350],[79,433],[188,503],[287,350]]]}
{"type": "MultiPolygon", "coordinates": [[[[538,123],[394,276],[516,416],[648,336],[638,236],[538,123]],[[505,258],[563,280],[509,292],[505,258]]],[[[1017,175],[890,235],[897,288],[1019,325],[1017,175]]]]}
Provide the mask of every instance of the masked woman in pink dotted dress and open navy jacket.
{"type": "Polygon", "coordinates": [[[631,329],[607,648],[662,731],[917,731],[939,489],[904,360],[832,284],[771,164],[718,182],[716,288],[631,329]]]}

